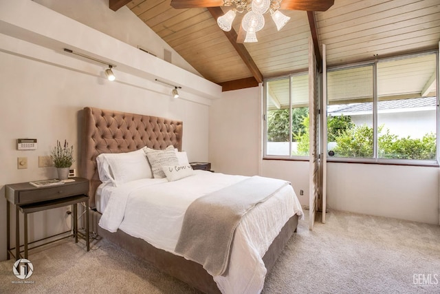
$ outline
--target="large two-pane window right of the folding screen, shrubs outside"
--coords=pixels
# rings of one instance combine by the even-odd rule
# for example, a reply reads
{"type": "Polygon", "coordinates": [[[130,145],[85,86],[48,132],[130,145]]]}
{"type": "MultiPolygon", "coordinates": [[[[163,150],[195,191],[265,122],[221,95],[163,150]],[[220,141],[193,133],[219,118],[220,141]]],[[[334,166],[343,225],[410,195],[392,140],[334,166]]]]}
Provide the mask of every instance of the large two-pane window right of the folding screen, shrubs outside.
{"type": "Polygon", "coordinates": [[[327,71],[329,158],[437,159],[437,53],[327,71]]]}

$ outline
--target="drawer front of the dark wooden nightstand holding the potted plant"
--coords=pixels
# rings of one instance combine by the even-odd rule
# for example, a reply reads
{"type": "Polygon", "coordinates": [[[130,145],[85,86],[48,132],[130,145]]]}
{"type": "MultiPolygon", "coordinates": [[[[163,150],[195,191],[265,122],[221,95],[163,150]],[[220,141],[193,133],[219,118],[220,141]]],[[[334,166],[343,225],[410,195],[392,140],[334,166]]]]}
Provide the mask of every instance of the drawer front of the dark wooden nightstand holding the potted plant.
{"type": "Polygon", "coordinates": [[[57,198],[64,198],[78,194],[87,193],[89,190],[88,182],[78,182],[76,185],[59,185],[56,187],[39,188],[32,191],[20,191],[19,203],[41,202],[57,198]]]}

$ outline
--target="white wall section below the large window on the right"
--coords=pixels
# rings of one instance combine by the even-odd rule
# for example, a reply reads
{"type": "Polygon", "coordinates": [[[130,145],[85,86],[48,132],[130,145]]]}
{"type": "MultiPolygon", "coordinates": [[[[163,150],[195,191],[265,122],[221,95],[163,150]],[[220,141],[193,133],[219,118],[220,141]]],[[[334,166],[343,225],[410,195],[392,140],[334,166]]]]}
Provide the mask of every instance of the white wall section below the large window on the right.
{"type": "Polygon", "coordinates": [[[439,168],[328,163],[327,204],[353,211],[439,224],[439,168]]]}

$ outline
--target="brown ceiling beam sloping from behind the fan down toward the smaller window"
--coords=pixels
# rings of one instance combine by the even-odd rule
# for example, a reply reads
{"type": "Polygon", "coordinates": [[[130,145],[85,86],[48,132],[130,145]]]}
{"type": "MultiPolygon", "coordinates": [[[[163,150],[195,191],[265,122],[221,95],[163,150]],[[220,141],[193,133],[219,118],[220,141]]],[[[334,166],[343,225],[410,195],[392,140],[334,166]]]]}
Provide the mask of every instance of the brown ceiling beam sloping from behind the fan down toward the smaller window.
{"type": "MultiPolygon", "coordinates": [[[[219,17],[223,15],[223,10],[219,7],[208,7],[207,8],[212,17],[217,21],[219,17]]],[[[250,56],[248,50],[246,50],[245,45],[236,43],[237,34],[235,30],[232,28],[229,32],[225,32],[225,35],[228,37],[228,40],[234,46],[236,52],[240,55],[241,59],[243,59],[245,65],[249,68],[250,72],[254,76],[257,83],[263,82],[263,74],[261,74],[259,67],[256,66],[254,60],[250,56]]],[[[240,81],[240,80],[238,80],[240,81]]]]}

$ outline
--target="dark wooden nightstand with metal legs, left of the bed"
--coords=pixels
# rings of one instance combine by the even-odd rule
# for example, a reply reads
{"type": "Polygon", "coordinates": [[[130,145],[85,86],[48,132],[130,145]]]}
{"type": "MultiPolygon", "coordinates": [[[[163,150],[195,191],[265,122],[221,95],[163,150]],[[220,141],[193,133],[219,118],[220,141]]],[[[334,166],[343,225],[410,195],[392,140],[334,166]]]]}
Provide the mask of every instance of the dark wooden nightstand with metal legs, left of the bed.
{"type": "MultiPolygon", "coordinates": [[[[28,214],[36,211],[44,211],[47,209],[54,209],[58,207],[66,207],[73,205],[73,234],[63,238],[59,238],[52,242],[75,237],[75,242],[78,242],[78,203],[83,202],[86,211],[89,211],[89,180],[85,178],[73,178],[74,182],[65,182],[63,185],[34,187],[29,182],[21,182],[17,184],[5,185],[6,203],[6,218],[7,218],[7,243],[8,251],[7,258],[14,255],[12,249],[15,249],[14,258],[19,260],[21,258],[20,251],[20,223],[19,212],[24,216],[24,258],[28,259],[28,214]],[[15,205],[15,248],[10,248],[10,207],[15,205]]],[[[66,232],[67,233],[67,232],[66,232]]],[[[54,237],[54,236],[52,236],[54,237]]],[[[47,238],[45,238],[47,239],[47,238]]],[[[43,240],[45,240],[43,239],[43,240]]],[[[38,242],[37,240],[34,242],[38,242]]],[[[89,244],[89,213],[85,213],[85,241],[87,251],[90,249],[89,244]]]]}

